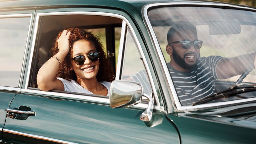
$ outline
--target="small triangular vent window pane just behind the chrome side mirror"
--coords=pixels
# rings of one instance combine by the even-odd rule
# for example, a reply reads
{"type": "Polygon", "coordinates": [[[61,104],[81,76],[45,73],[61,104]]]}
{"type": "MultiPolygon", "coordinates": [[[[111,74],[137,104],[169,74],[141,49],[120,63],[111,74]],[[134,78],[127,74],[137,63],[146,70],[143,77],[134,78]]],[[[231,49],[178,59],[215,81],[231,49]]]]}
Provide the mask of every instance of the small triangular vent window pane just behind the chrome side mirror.
{"type": "Polygon", "coordinates": [[[121,79],[133,80],[142,84],[143,92],[147,94],[152,93],[149,78],[142,61],[142,57],[136,43],[131,35],[131,31],[127,28],[124,62],[121,79]]]}

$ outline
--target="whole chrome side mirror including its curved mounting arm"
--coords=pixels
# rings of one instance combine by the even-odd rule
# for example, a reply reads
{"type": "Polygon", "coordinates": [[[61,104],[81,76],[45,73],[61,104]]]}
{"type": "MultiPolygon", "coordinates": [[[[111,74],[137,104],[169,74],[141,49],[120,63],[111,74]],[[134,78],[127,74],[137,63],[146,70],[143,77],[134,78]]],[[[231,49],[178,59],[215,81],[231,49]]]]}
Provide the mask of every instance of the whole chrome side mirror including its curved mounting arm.
{"type": "Polygon", "coordinates": [[[152,96],[142,93],[143,88],[140,83],[127,80],[115,80],[110,86],[110,106],[112,108],[129,107],[141,102],[142,95],[148,99],[148,107],[141,114],[140,120],[150,121],[152,119],[152,96]]]}

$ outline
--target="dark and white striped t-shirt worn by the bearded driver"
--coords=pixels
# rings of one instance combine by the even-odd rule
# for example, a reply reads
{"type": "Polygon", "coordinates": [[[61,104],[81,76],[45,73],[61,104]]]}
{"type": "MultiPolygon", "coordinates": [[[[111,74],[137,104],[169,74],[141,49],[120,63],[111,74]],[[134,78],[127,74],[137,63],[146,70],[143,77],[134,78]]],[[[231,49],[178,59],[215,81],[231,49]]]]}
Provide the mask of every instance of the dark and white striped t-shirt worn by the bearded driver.
{"type": "Polygon", "coordinates": [[[189,105],[215,92],[216,65],[221,59],[220,56],[201,57],[197,69],[190,72],[177,71],[167,64],[181,105],[189,105]]]}

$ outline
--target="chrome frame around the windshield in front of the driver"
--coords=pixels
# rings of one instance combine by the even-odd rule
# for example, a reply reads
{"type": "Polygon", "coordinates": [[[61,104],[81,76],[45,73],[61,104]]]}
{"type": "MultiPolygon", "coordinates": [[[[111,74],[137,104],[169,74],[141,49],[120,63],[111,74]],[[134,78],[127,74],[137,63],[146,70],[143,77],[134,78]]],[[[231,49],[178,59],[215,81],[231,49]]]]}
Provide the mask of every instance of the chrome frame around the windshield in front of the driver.
{"type": "Polygon", "coordinates": [[[222,3],[197,3],[197,2],[170,2],[170,3],[154,3],[154,4],[148,4],[144,7],[142,10],[143,16],[144,16],[144,21],[145,24],[147,25],[148,33],[150,37],[152,38],[153,45],[156,49],[156,55],[160,59],[161,63],[161,68],[163,72],[165,73],[165,81],[167,82],[166,85],[168,91],[170,92],[170,95],[164,96],[165,99],[167,100],[166,104],[167,107],[172,107],[174,106],[173,109],[168,109],[168,113],[172,112],[183,112],[183,111],[188,111],[188,110],[198,110],[198,109],[204,109],[204,108],[211,108],[211,107],[217,107],[217,106],[227,106],[227,105],[232,105],[232,104],[238,104],[238,103],[243,103],[243,102],[248,102],[248,101],[255,101],[256,98],[248,98],[248,99],[242,99],[242,100],[235,100],[234,101],[227,101],[227,102],[218,102],[218,103],[209,103],[209,104],[200,104],[200,105],[195,105],[195,106],[182,106],[181,103],[179,102],[179,98],[176,93],[176,89],[174,87],[174,84],[172,82],[171,76],[169,74],[169,70],[167,68],[164,56],[161,52],[161,48],[158,44],[157,37],[154,33],[153,27],[151,26],[151,23],[148,18],[148,11],[152,10],[153,8],[159,8],[159,7],[165,7],[165,6],[170,6],[170,7],[175,7],[175,6],[198,6],[198,7],[216,7],[216,8],[229,8],[229,9],[239,9],[239,10],[249,10],[256,12],[256,9],[254,8],[249,8],[249,7],[243,7],[243,6],[236,6],[236,5],[231,5],[231,4],[222,4],[222,3]]]}

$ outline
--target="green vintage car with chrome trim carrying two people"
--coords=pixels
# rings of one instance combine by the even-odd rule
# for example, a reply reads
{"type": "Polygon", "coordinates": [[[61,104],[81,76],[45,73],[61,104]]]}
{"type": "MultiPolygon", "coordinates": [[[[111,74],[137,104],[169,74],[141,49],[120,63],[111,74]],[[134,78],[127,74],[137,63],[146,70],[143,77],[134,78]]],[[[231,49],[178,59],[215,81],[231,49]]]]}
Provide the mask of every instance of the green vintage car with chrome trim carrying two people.
{"type": "Polygon", "coordinates": [[[255,37],[256,9],[213,1],[1,1],[0,140],[255,143],[255,37]],[[68,27],[100,37],[109,96],[38,89],[68,27]]]}

